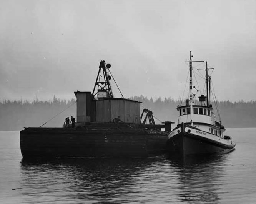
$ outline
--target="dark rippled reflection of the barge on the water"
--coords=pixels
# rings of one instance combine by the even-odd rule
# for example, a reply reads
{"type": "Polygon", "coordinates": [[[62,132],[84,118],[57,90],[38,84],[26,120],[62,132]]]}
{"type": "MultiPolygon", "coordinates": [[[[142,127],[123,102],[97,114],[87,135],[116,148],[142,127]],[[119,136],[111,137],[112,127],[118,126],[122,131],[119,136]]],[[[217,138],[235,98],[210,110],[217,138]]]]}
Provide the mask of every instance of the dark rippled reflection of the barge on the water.
{"type": "MultiPolygon", "coordinates": [[[[48,194],[55,191],[54,195],[60,196],[59,199],[65,201],[82,199],[88,200],[89,203],[92,200],[102,203],[105,199],[111,201],[119,196],[125,197],[126,194],[133,193],[136,175],[143,169],[150,168],[154,162],[155,160],[114,158],[23,161],[21,168],[22,173],[25,173],[25,179],[22,184],[36,191],[37,196],[38,193],[48,194]],[[30,180],[31,176],[32,180],[30,180]],[[34,183],[38,185],[33,187],[34,183]]],[[[31,191],[26,189],[25,192],[26,194],[29,192],[30,196],[31,191]]],[[[50,197],[48,201],[51,201],[50,197]]]]}

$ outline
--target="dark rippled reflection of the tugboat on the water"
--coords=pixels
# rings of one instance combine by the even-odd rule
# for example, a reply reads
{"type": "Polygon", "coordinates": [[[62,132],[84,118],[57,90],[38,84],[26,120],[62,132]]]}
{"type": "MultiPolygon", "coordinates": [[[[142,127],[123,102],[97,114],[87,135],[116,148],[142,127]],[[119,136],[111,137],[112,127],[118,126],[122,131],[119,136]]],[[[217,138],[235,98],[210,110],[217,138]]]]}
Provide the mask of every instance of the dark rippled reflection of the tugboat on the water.
{"type": "Polygon", "coordinates": [[[226,155],[183,157],[170,160],[179,182],[179,197],[189,203],[219,203],[223,191],[223,163],[226,155]]]}

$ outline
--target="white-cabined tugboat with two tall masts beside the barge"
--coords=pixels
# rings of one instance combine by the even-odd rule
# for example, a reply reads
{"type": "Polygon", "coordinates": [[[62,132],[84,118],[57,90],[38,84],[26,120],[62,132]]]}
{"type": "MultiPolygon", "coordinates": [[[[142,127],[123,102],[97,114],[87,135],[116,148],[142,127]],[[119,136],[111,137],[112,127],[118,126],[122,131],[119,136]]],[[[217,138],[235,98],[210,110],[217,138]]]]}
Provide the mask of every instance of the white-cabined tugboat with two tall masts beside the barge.
{"type": "MultiPolygon", "coordinates": [[[[179,113],[178,124],[168,135],[166,150],[169,155],[206,155],[224,154],[234,150],[236,143],[230,136],[224,135],[225,128],[221,121],[216,121],[213,113],[213,106],[210,104],[211,77],[208,77],[206,62],[206,96],[201,95],[196,100],[196,93],[199,91],[193,86],[192,61],[190,51],[189,62],[189,96],[186,104],[177,107],[179,113]]],[[[205,86],[204,86],[205,87],[205,86]]],[[[218,106],[216,106],[217,112],[218,106]]],[[[219,116],[220,119],[220,116],[219,116]]]]}

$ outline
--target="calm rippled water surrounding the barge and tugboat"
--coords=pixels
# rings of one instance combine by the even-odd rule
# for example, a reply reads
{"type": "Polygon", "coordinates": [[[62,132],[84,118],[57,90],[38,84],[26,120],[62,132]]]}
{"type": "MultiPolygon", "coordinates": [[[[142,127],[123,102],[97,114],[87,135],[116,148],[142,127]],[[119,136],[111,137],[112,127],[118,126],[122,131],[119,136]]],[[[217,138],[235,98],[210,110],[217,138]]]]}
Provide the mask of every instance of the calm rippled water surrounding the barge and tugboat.
{"type": "Polygon", "coordinates": [[[0,132],[0,203],[256,203],[256,128],[226,135],[236,150],[217,157],[24,162],[0,132]]]}

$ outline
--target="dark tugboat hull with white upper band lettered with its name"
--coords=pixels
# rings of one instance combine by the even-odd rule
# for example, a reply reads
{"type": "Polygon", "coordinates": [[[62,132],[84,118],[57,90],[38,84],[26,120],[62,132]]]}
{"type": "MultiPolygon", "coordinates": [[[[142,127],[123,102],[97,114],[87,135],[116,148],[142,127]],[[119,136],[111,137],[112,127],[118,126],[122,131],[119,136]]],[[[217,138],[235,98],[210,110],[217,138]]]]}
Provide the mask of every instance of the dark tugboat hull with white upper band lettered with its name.
{"type": "Polygon", "coordinates": [[[176,133],[171,132],[166,142],[166,150],[171,155],[224,154],[235,147],[231,137],[224,139],[193,127],[180,127],[176,133]]]}

